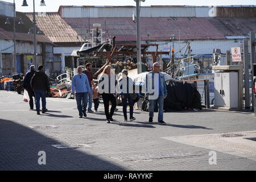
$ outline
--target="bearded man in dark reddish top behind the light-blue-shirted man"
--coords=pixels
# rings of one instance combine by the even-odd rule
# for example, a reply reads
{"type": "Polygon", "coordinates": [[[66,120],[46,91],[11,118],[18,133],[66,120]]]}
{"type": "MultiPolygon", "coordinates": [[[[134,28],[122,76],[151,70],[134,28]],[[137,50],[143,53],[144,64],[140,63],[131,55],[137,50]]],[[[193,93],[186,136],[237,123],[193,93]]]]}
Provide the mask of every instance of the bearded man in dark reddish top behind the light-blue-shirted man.
{"type": "Polygon", "coordinates": [[[92,73],[92,64],[87,63],[85,65],[85,71],[83,73],[87,76],[89,85],[90,85],[90,93],[88,94],[88,113],[93,113],[92,111],[92,102],[93,102],[93,73],[92,73]]]}

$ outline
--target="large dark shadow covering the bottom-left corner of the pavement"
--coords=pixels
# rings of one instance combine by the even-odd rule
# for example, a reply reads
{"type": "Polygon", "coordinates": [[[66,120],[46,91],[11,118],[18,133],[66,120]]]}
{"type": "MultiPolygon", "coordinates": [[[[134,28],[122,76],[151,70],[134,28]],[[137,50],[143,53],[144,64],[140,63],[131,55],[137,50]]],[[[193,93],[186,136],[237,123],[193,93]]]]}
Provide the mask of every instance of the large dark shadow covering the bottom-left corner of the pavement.
{"type": "MultiPolygon", "coordinates": [[[[56,129],[57,130],[57,129],[56,129]]],[[[97,156],[76,149],[58,149],[63,144],[13,121],[0,119],[0,170],[125,170],[97,156]],[[39,151],[46,152],[46,165],[39,165],[39,151]]],[[[67,143],[65,143],[67,144],[67,143]]],[[[68,143],[82,144],[82,143],[68,143]]],[[[90,144],[93,147],[93,144],[90,144]]]]}

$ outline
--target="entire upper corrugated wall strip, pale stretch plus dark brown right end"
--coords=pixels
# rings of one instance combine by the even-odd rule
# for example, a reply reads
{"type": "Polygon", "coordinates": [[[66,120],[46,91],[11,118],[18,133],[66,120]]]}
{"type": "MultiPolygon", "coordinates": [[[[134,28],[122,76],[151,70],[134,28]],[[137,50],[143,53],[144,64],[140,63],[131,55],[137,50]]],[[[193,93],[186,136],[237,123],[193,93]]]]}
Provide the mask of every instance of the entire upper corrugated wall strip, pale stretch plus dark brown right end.
{"type": "MultiPolygon", "coordinates": [[[[61,6],[63,18],[131,17],[136,7],[61,6]]],[[[141,17],[256,17],[255,6],[142,6],[141,17]]]]}

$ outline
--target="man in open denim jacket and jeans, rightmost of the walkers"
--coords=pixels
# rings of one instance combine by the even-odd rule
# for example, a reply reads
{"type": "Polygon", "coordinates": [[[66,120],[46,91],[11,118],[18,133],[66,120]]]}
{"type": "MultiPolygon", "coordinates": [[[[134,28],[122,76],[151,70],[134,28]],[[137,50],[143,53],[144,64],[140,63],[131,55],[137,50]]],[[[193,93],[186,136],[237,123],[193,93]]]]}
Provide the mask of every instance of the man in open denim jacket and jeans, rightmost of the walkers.
{"type": "Polygon", "coordinates": [[[163,121],[163,104],[164,98],[167,97],[166,81],[164,79],[163,73],[160,72],[160,64],[157,62],[153,64],[153,70],[147,73],[146,89],[148,93],[148,100],[150,101],[150,118],[148,122],[153,122],[155,103],[158,102],[158,122],[159,124],[166,124],[163,121]],[[154,83],[155,81],[156,83],[154,83]],[[149,92],[150,89],[154,89],[154,92],[149,92]]]}

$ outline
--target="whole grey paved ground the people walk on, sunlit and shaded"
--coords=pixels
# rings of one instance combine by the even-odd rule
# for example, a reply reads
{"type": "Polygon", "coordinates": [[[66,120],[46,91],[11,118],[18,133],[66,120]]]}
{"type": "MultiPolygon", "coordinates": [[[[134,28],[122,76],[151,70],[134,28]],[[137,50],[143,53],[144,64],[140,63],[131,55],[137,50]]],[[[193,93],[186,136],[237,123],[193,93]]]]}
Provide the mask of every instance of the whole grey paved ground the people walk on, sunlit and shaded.
{"type": "MultiPolygon", "coordinates": [[[[135,110],[135,122],[122,122],[122,107],[118,107],[113,117],[117,121],[106,123],[102,104],[98,113],[79,118],[75,100],[47,98],[49,112],[36,115],[22,97],[0,91],[0,170],[256,169],[250,146],[252,152],[243,148],[246,155],[232,153],[232,147],[225,147],[227,138],[220,137],[255,132],[252,113],[174,111],[164,113],[167,125],[158,125],[148,123],[148,113],[139,110],[135,110]],[[218,142],[213,142],[216,136],[218,142]],[[84,145],[59,149],[55,144],[84,145]],[[46,165],[38,164],[39,151],[46,152],[46,165]],[[210,151],[216,151],[216,165],[209,164],[210,151]]],[[[236,137],[241,144],[243,138],[236,137]]],[[[231,138],[228,142],[236,142],[231,138]]],[[[249,143],[254,146],[253,140],[249,143]]]]}

